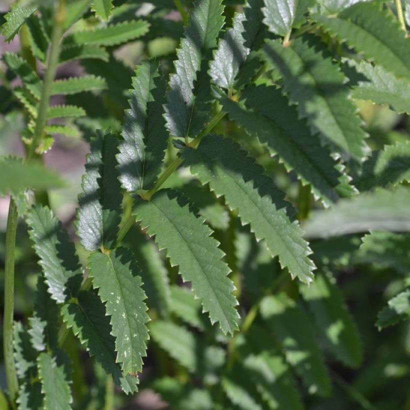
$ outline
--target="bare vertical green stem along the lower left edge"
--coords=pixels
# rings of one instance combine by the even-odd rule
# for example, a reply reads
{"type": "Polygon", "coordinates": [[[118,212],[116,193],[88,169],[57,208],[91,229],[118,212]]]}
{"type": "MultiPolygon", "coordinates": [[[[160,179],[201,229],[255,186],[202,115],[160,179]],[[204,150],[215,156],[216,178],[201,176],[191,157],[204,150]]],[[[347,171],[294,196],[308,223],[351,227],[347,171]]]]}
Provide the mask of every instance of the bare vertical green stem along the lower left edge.
{"type": "Polygon", "coordinates": [[[17,207],[10,198],[5,234],[3,353],[8,395],[13,408],[18,390],[13,354],[14,249],[17,216],[17,207]]]}

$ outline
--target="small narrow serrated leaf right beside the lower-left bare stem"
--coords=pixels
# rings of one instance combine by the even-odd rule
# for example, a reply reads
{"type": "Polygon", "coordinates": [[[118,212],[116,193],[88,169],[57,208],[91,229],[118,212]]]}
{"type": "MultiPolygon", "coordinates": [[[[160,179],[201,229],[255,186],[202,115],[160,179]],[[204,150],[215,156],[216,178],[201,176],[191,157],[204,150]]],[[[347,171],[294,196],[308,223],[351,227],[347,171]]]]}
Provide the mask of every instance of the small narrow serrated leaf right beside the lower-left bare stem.
{"type": "Polygon", "coordinates": [[[13,325],[13,347],[15,371],[20,380],[29,378],[36,371],[37,352],[31,344],[30,335],[25,326],[18,321],[13,325]]]}

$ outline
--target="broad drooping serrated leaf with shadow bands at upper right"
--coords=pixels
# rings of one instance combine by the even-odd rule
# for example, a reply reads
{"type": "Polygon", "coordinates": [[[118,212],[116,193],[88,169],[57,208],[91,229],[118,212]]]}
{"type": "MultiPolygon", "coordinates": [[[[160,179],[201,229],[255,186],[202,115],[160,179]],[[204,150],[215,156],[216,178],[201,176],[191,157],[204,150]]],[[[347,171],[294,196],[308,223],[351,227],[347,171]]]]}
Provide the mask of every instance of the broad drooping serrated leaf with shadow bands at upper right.
{"type": "Polygon", "coordinates": [[[297,104],[312,131],[330,143],[345,159],[363,159],[365,132],[350,99],[345,77],[323,44],[311,35],[293,39],[284,47],[268,40],[263,47],[266,61],[283,77],[283,91],[297,104]]]}

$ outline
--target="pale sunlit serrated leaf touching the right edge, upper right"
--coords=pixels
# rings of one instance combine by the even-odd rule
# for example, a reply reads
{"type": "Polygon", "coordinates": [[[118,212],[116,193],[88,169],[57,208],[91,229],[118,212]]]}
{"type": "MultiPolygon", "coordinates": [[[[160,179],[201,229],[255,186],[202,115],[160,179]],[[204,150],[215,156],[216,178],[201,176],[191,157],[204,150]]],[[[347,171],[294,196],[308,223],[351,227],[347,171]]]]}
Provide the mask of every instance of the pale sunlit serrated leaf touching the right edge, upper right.
{"type": "Polygon", "coordinates": [[[396,78],[381,65],[372,65],[367,61],[359,63],[347,60],[350,68],[356,73],[352,81],[353,98],[371,99],[377,104],[389,104],[397,112],[410,113],[410,81],[406,78],[396,78]]]}

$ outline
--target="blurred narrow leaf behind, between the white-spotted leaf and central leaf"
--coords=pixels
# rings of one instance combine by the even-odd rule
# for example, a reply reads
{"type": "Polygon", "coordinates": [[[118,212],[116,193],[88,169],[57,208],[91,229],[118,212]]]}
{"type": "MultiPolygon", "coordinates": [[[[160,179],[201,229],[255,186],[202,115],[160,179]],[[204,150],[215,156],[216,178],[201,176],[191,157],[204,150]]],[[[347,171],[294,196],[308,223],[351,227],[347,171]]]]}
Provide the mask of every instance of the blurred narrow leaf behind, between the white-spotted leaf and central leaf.
{"type": "Polygon", "coordinates": [[[160,316],[166,316],[170,299],[169,278],[158,248],[136,226],[128,230],[122,243],[135,254],[141,268],[148,307],[156,309],[160,316]]]}

